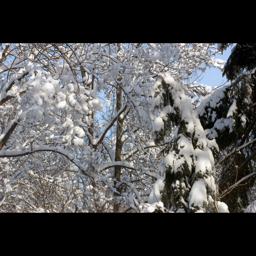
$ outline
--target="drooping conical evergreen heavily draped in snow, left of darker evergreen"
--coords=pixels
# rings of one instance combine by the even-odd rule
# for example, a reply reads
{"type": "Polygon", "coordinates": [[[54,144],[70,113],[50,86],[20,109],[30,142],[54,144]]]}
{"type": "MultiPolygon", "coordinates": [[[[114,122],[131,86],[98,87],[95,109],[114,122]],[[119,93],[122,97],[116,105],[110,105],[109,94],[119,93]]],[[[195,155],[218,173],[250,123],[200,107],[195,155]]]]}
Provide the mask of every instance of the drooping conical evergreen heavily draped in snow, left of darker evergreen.
{"type": "MultiPolygon", "coordinates": [[[[159,167],[158,183],[164,179],[165,184],[161,200],[166,208],[172,206],[174,212],[215,211],[213,198],[217,187],[211,149],[216,151],[218,146],[215,140],[206,138],[182,84],[167,73],[159,76],[163,111],[154,121],[155,143],[161,143],[166,132],[176,127],[173,143],[167,149],[171,152],[159,167]]],[[[155,202],[155,189],[150,195],[150,203],[155,202]]]]}

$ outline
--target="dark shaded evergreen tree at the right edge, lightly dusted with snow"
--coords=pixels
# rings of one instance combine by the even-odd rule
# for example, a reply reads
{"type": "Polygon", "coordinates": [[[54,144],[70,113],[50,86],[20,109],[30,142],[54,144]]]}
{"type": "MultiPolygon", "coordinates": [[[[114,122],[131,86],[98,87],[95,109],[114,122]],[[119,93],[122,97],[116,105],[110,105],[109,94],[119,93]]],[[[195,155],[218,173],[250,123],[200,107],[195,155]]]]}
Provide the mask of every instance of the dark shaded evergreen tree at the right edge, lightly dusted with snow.
{"type": "Polygon", "coordinates": [[[221,151],[216,156],[218,185],[230,212],[243,212],[255,200],[255,69],[256,44],[238,43],[223,71],[231,85],[217,90],[196,110],[208,138],[215,138],[221,151]]]}

